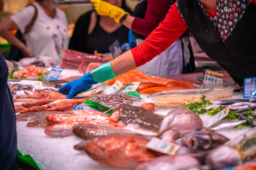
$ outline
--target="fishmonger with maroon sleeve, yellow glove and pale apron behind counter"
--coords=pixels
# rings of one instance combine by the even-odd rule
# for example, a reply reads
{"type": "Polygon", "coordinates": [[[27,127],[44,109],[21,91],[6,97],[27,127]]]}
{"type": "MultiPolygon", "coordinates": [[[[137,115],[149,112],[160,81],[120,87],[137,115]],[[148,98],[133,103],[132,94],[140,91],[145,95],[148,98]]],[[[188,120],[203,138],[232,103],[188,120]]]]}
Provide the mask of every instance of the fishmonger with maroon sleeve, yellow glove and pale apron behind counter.
{"type": "MultiPolygon", "coordinates": [[[[91,0],[99,15],[108,15],[131,29],[140,44],[163,21],[173,0],[140,0],[135,6],[133,15],[124,13],[121,8],[102,0],[91,0]]],[[[188,30],[176,40],[159,57],[152,59],[137,69],[151,76],[167,76],[182,73],[192,73],[195,68],[194,56],[188,30]]]]}

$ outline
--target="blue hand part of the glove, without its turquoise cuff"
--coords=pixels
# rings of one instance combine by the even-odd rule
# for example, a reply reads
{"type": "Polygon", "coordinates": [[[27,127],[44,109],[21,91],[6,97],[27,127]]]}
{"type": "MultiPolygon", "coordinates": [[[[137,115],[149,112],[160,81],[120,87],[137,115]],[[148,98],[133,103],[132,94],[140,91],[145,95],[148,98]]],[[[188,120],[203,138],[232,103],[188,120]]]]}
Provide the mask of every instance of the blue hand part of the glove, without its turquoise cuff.
{"type": "Polygon", "coordinates": [[[91,72],[89,72],[86,75],[78,78],[77,80],[66,83],[58,90],[58,92],[65,95],[68,94],[66,99],[72,99],[73,96],[85,92],[86,90],[90,89],[93,84],[97,83],[97,81],[94,81],[91,72]]]}

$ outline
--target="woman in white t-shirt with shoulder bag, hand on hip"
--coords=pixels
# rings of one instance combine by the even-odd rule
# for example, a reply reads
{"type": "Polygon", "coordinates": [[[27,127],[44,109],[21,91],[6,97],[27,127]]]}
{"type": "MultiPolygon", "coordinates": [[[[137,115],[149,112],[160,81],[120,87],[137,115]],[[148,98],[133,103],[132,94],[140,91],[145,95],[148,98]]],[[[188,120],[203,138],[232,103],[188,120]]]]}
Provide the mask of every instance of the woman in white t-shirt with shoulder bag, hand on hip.
{"type": "Polygon", "coordinates": [[[64,11],[51,0],[37,0],[37,18],[26,35],[26,45],[19,41],[10,30],[19,29],[22,33],[35,13],[33,6],[23,8],[18,13],[0,23],[0,36],[21,49],[24,57],[49,56],[62,58],[64,49],[68,49],[68,20],[64,11]]]}

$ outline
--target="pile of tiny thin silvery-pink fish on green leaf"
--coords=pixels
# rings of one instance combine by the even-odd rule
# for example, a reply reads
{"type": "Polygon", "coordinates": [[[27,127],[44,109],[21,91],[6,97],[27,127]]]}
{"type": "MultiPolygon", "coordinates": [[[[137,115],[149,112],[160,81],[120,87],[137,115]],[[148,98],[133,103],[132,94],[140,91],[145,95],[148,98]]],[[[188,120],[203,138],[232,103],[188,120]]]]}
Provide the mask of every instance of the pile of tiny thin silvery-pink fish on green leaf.
{"type": "Polygon", "coordinates": [[[128,94],[110,94],[110,95],[99,95],[91,98],[95,102],[98,102],[106,107],[115,107],[122,103],[131,105],[134,101],[140,100],[140,97],[134,97],[128,94]]]}

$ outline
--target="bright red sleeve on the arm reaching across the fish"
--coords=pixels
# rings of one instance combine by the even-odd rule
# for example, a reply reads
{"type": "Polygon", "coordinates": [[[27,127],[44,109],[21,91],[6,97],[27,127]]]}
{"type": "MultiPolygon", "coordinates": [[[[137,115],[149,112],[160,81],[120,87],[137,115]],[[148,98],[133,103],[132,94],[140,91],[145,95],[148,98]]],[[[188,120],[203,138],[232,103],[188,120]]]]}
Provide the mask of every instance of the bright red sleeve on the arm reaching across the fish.
{"type": "Polygon", "coordinates": [[[137,67],[159,55],[186,31],[187,25],[181,19],[176,2],[171,6],[165,19],[137,47],[131,49],[137,67]]]}

